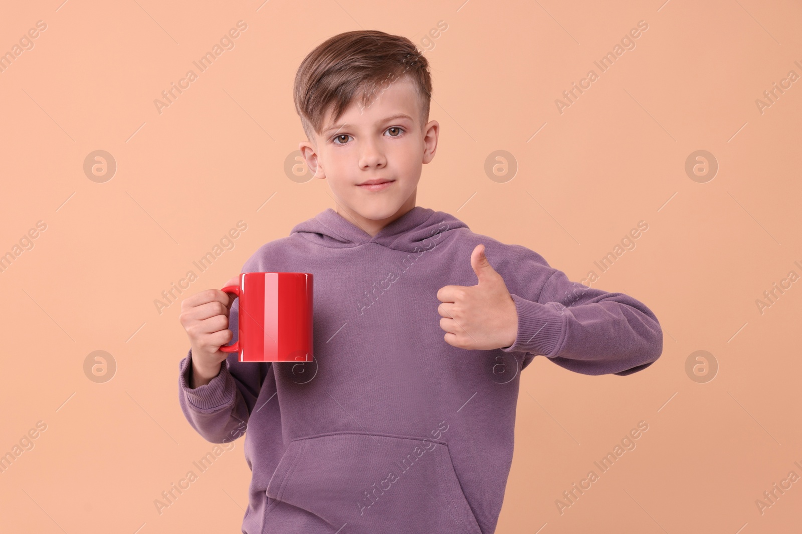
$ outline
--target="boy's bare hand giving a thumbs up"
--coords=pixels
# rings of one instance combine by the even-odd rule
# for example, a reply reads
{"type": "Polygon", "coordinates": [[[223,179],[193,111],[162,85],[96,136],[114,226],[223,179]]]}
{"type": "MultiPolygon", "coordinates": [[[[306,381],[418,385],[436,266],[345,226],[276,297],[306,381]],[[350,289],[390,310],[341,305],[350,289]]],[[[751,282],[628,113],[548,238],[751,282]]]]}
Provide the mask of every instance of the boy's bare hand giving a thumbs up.
{"type": "Polygon", "coordinates": [[[444,286],[437,291],[444,339],[468,350],[509,347],[518,334],[518,312],[504,279],[484,255],[484,245],[473,249],[471,267],[479,279],[476,286],[444,286]]]}

